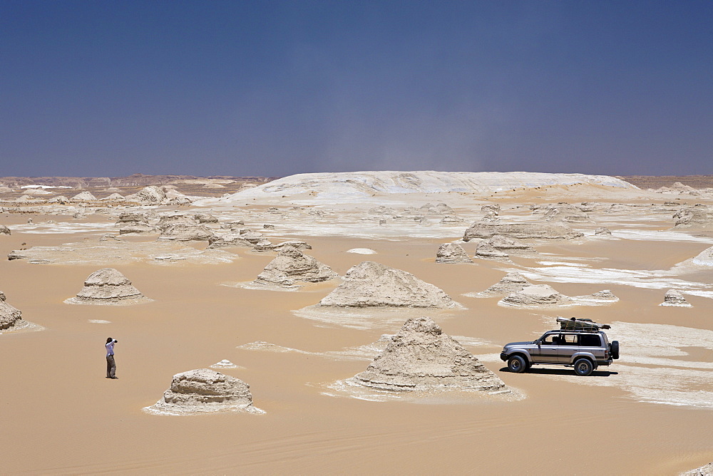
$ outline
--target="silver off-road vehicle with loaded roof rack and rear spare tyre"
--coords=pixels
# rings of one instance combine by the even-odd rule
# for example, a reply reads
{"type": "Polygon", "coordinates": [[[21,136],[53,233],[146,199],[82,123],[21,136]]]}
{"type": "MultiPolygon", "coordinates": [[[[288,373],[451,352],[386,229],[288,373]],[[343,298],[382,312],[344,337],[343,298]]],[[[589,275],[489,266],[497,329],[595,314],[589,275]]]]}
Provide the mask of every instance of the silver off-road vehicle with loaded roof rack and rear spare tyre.
{"type": "Polygon", "coordinates": [[[588,376],[598,366],[608,366],[619,358],[619,342],[609,342],[602,329],[590,319],[558,318],[560,329],[547,331],[533,342],[506,344],[500,358],[511,372],[528,371],[535,364],[574,367],[578,376],[588,376]]]}

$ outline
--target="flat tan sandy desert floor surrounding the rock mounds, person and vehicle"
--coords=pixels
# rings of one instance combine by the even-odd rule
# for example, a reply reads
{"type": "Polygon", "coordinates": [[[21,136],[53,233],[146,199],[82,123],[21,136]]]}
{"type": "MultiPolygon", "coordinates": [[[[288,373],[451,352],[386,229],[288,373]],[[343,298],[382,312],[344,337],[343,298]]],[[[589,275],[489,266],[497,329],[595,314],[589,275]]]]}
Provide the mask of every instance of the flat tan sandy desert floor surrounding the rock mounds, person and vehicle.
{"type": "MultiPolygon", "coordinates": [[[[527,206],[542,201],[540,195],[528,195],[517,200],[504,197],[501,203],[527,206]]],[[[263,209],[255,207],[256,213],[263,209]]],[[[476,209],[479,206],[471,211],[476,209]]],[[[469,210],[458,212],[467,215],[469,210]]],[[[241,213],[250,216],[249,208],[232,211],[241,213]]],[[[503,211],[501,216],[508,213],[521,219],[529,216],[526,210],[503,211]]],[[[337,395],[329,386],[364,371],[369,361],[334,358],[329,352],[373,343],[401,324],[376,319],[368,328],[350,328],[294,314],[317,303],[338,281],[296,292],[220,285],[255,279],[274,254],[230,249],[240,259],[160,267],[141,261],[117,265],[154,299],[130,307],[63,304],[99,268],[96,264],[0,260],[7,301],[22,311],[24,319],[46,328],[0,335],[0,472],[670,475],[703,465],[713,460],[712,301],[684,292],[693,308],[658,304],[668,289],[659,283],[663,277],[682,281],[682,291],[713,290],[710,269],[676,271],[672,276],[660,272],[710,247],[713,234],[682,233],[677,241],[668,234],[663,234],[665,239],[657,237],[657,230],[672,225],[666,213],[648,219],[593,216],[598,226],[612,229],[613,238],[535,244],[545,257],[513,258],[511,264],[434,262],[438,244],[461,238],[470,218],[446,232],[439,229],[437,237],[402,239],[399,233],[388,239],[326,236],[323,230],[300,234],[293,224],[285,224],[281,232],[279,222],[272,220],[277,223],[270,231],[272,241],[304,239],[313,247],[308,253],[339,274],[372,259],[436,284],[461,302],[467,309],[429,315],[444,332],[473,338],[468,348],[508,386],[526,395],[517,401],[467,394],[417,401],[337,395]],[[617,237],[617,230],[633,234],[617,237]],[[374,249],[377,254],[347,253],[353,248],[374,249]],[[546,271],[557,264],[540,262],[564,262],[583,271],[550,281],[546,271]],[[632,281],[630,273],[605,274],[603,281],[590,282],[592,273],[587,271],[602,269],[648,274],[643,274],[643,285],[632,281]],[[529,272],[538,283],[569,296],[610,289],[620,301],[532,310],[498,306],[498,297],[462,296],[483,291],[508,270],[529,272]],[[503,344],[537,337],[554,327],[556,316],[616,323],[609,335],[622,342],[620,361],[585,378],[554,366],[508,373],[496,357],[503,344]],[[103,343],[108,336],[119,341],[116,381],[104,378],[103,343]],[[237,348],[254,341],[306,352],[237,348]],[[255,406],[265,415],[168,417],[142,411],[160,398],[173,374],[222,359],[240,366],[222,372],[249,383],[255,406]]],[[[13,229],[27,217],[6,214],[0,223],[13,229]]],[[[93,217],[81,222],[106,222],[106,216],[93,217]]],[[[33,215],[35,222],[50,218],[56,219],[33,215]]],[[[573,226],[591,234],[597,224],[573,226]]],[[[1,254],[22,243],[56,246],[97,239],[106,232],[91,227],[76,233],[23,229],[29,230],[19,227],[11,236],[0,235],[1,254]]],[[[205,244],[192,246],[202,249],[205,244]]],[[[476,244],[463,246],[472,254],[476,244]]],[[[404,313],[403,321],[409,313],[413,311],[404,313]]]]}

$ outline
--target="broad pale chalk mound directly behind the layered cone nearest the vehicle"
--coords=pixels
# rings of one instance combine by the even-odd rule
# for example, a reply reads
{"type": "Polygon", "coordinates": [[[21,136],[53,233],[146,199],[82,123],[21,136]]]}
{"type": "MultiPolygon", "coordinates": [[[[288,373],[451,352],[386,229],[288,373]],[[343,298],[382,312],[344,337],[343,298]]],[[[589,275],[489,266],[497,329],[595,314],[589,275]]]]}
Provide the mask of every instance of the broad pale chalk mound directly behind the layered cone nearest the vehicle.
{"type": "Polygon", "coordinates": [[[411,273],[366,261],[350,268],[344,282],[324,296],[319,306],[445,309],[461,305],[411,273]]]}

